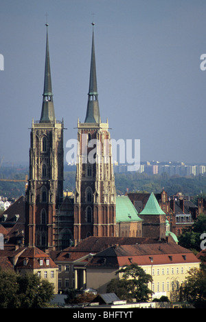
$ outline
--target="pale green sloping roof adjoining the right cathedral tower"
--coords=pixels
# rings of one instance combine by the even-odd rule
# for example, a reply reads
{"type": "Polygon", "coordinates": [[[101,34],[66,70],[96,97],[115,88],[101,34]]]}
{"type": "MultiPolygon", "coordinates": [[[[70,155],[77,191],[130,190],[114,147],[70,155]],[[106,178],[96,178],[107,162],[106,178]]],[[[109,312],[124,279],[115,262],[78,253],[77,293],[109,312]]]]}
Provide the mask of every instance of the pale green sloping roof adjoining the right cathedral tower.
{"type": "Polygon", "coordinates": [[[128,196],[116,197],[116,222],[142,221],[128,196]]]}

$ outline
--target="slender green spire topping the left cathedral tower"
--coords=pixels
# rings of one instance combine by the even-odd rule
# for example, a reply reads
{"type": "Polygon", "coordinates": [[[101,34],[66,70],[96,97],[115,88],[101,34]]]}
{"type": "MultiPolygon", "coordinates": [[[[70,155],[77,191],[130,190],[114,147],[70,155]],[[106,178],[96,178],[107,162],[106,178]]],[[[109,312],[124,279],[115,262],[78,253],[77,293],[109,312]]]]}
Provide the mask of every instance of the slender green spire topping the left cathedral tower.
{"type": "Polygon", "coordinates": [[[49,39],[48,39],[48,23],[47,26],[47,43],[45,57],[45,83],[43,92],[43,105],[41,110],[41,123],[52,122],[55,120],[54,103],[52,94],[52,78],[49,59],[49,39]]]}

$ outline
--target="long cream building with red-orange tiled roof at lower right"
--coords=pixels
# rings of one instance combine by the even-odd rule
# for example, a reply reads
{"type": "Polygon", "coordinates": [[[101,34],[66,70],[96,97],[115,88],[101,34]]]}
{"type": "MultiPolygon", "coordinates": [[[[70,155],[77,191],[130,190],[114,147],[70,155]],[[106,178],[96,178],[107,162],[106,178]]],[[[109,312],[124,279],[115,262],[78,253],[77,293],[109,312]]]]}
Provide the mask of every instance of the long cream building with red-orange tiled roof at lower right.
{"type": "Polygon", "coordinates": [[[122,278],[122,273],[117,271],[131,263],[137,263],[152,276],[149,285],[152,298],[168,296],[171,299],[190,269],[199,268],[201,261],[176,243],[114,245],[95,254],[87,264],[87,288],[106,292],[111,279],[122,278]]]}

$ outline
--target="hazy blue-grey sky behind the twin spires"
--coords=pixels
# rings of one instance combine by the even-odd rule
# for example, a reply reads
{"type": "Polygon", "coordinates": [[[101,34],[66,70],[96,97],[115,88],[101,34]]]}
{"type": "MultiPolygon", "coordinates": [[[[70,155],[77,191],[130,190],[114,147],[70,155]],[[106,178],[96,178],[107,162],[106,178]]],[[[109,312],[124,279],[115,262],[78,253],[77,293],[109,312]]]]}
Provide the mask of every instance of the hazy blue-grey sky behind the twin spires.
{"type": "Polygon", "coordinates": [[[111,137],[140,139],[141,161],[206,163],[205,0],[1,0],[0,159],[29,160],[43,99],[45,14],[56,119],[67,128],[64,144],[76,139],[93,13],[100,114],[111,137]]]}

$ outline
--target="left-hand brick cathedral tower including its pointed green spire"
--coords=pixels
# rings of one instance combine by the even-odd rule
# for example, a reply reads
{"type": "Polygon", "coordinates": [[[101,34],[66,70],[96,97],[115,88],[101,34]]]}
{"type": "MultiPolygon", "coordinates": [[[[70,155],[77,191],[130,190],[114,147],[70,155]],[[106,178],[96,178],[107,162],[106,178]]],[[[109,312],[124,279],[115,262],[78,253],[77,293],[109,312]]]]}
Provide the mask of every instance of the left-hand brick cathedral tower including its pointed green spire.
{"type": "MultiPolygon", "coordinates": [[[[48,24],[46,24],[48,27],[48,24]]],[[[48,28],[47,28],[48,29],[48,28]]],[[[56,121],[47,30],[45,82],[40,121],[32,120],[30,176],[26,192],[25,244],[56,247],[56,210],[63,196],[63,121],[56,121]]]]}

